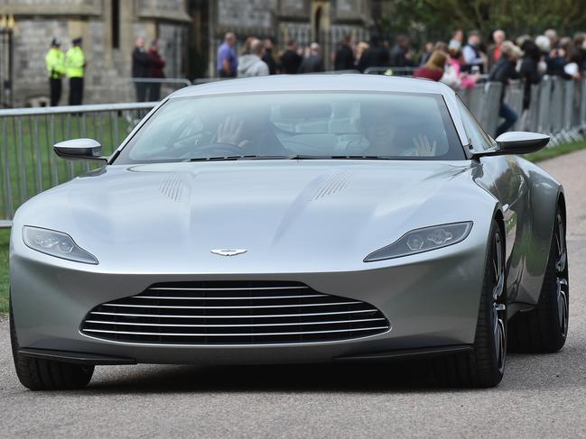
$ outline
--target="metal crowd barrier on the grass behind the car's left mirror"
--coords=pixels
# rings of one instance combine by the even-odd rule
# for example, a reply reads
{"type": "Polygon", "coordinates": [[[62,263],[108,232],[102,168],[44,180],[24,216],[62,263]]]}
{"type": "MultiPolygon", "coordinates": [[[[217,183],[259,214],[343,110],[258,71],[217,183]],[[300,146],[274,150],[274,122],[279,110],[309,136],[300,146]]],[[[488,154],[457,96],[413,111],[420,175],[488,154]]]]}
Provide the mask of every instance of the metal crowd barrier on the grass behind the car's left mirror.
{"type": "Polygon", "coordinates": [[[88,162],[59,160],[54,143],[91,137],[110,154],[156,104],[0,110],[0,219],[10,220],[28,198],[91,169],[88,162]]]}

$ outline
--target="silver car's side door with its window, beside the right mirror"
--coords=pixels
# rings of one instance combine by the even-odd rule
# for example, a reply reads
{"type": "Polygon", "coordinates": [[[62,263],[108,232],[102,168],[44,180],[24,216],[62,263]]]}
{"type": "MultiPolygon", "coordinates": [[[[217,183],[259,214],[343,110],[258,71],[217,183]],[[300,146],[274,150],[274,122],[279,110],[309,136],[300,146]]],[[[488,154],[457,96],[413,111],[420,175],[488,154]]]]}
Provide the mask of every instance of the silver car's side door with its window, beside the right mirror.
{"type": "MultiPolygon", "coordinates": [[[[460,100],[459,106],[472,150],[483,151],[495,147],[496,142],[482,129],[460,100]]],[[[482,157],[478,166],[477,182],[501,202],[505,220],[508,301],[516,301],[525,265],[522,261],[524,255],[521,243],[529,232],[526,229],[528,224],[523,221],[529,217],[526,215],[529,206],[528,181],[515,156],[482,157]]]]}

